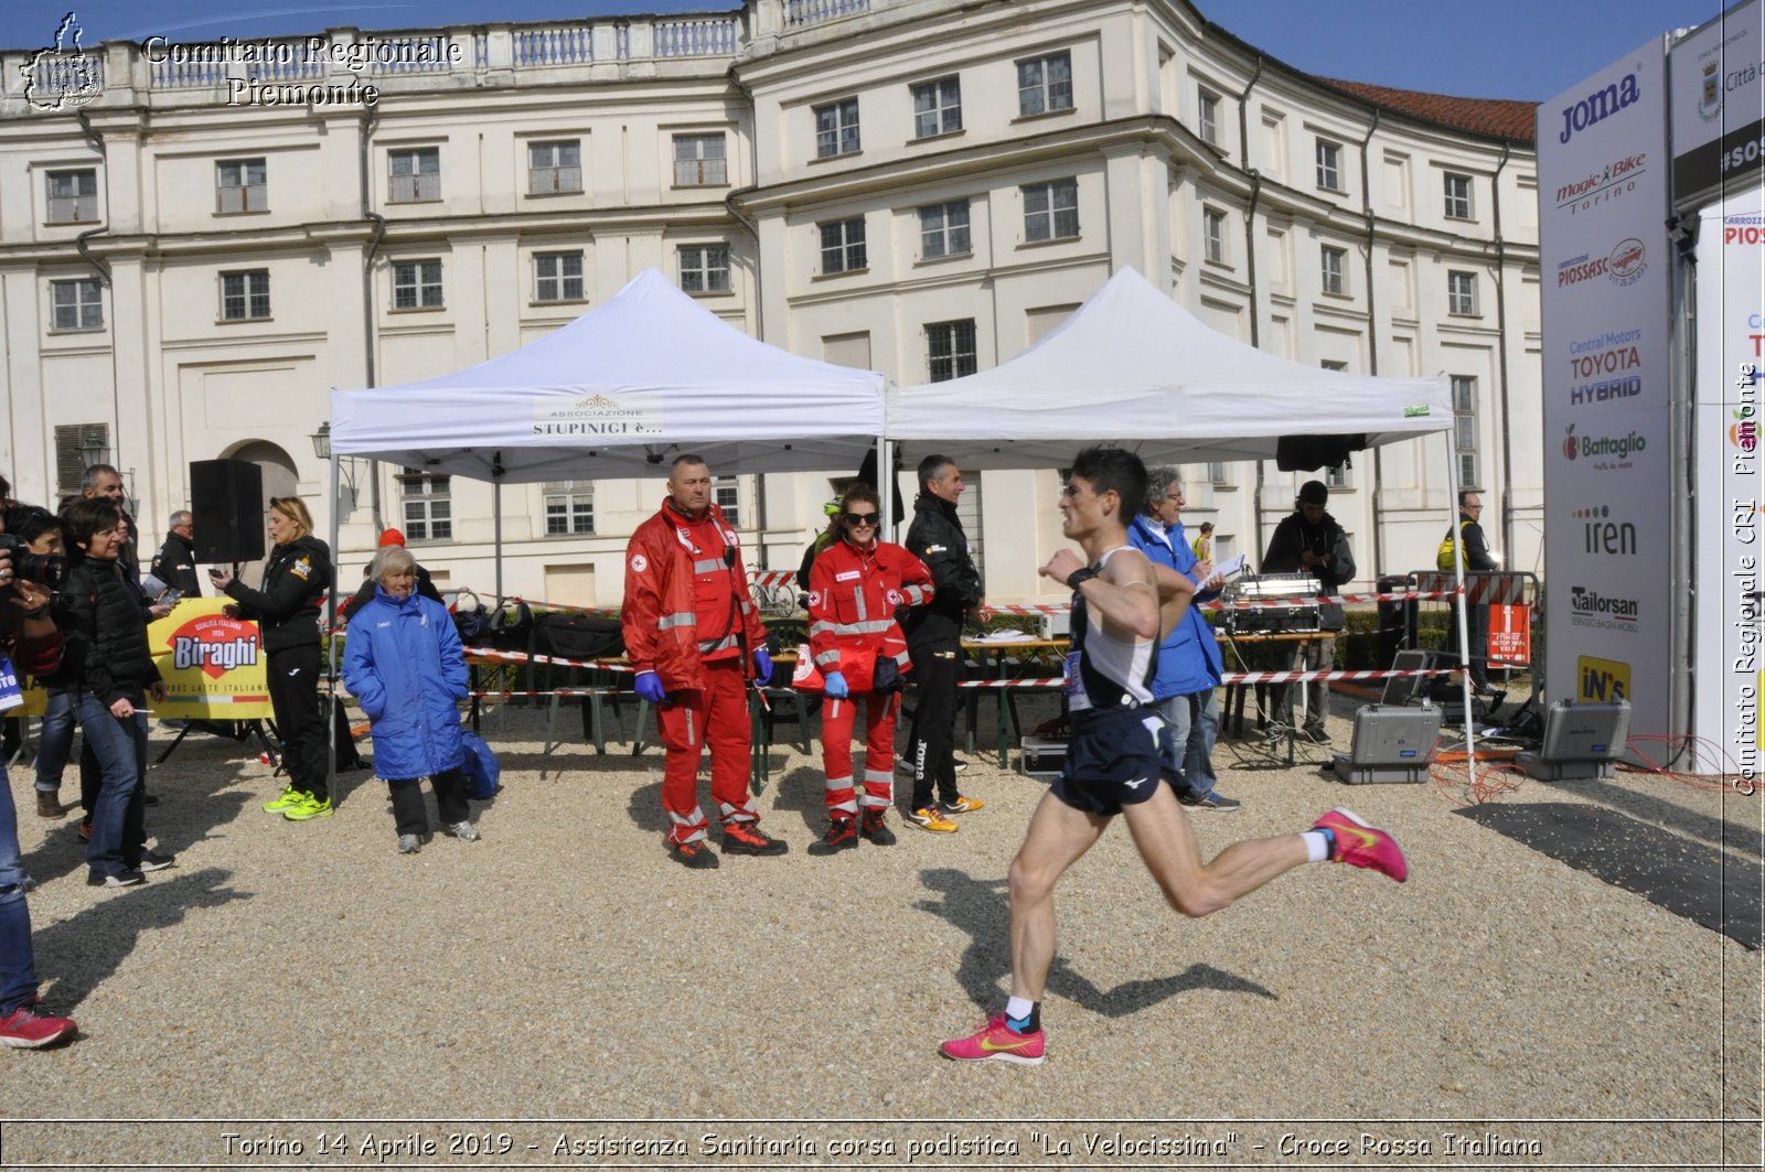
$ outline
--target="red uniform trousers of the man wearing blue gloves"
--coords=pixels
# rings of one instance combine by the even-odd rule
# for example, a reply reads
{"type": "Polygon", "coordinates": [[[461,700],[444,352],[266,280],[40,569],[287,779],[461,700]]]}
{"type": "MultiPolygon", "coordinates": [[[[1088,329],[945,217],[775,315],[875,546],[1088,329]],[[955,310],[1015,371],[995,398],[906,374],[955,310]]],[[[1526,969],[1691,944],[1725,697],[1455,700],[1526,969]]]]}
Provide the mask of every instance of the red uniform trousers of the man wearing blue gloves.
{"type": "Polygon", "coordinates": [[[662,808],[667,810],[669,838],[694,842],[706,837],[704,810],[699,808],[699,750],[711,747],[711,796],[718,817],[727,823],[754,823],[754,796],[748,794],[748,681],[741,658],[729,657],[704,665],[704,692],[680,692],[672,704],[658,706],[662,745],[662,808]]]}

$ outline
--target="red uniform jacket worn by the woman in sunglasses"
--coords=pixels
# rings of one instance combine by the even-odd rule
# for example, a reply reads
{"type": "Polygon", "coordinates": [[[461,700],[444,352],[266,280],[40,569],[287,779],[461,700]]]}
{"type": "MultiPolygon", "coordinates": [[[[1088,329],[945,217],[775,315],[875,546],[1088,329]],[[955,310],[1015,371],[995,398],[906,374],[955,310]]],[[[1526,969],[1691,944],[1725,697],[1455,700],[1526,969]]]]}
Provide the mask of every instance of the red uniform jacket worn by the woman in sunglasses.
{"type": "Polygon", "coordinates": [[[852,694],[870,690],[879,655],[907,674],[913,664],[895,611],[930,600],[932,572],[900,545],[872,542],[856,549],[847,540],[833,542],[808,574],[808,650],[815,667],[845,676],[852,694]]]}

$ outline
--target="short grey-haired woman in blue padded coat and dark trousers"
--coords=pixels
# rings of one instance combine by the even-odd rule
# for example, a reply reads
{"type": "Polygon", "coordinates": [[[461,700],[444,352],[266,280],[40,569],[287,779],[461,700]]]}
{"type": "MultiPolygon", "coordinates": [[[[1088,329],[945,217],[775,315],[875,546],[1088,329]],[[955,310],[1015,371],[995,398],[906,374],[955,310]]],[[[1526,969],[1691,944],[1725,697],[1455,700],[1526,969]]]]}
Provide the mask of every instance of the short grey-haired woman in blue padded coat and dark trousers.
{"type": "Polygon", "coordinates": [[[415,854],[429,835],[418,780],[427,777],[447,833],[477,842],[468,819],[466,745],[459,701],[466,699],[466,651],[447,607],[417,593],[417,560],[401,545],[374,554],[374,598],[349,616],[342,681],[374,731],[374,773],[392,791],[399,854],[415,854]]]}

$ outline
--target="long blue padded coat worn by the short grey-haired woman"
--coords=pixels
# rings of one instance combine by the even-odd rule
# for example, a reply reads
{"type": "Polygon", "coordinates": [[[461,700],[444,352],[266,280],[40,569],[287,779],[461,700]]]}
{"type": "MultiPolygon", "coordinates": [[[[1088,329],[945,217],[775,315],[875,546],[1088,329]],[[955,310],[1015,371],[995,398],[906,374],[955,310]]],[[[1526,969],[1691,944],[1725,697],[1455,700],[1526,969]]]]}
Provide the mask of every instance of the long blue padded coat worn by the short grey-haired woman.
{"type": "Polygon", "coordinates": [[[372,602],[349,616],[342,681],[374,725],[381,780],[434,777],[464,761],[466,651],[439,602],[374,586],[372,602]]]}

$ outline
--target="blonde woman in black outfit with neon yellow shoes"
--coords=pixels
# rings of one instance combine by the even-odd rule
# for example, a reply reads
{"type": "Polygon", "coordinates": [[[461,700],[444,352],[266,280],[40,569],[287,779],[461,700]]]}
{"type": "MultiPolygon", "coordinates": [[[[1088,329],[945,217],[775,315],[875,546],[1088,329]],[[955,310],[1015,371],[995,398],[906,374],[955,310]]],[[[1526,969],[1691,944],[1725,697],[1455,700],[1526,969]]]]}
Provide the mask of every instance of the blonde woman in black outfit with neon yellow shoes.
{"type": "Polygon", "coordinates": [[[263,630],[270,708],[288,764],[288,787],[263,810],[305,823],[332,815],[330,731],[319,708],[319,612],[332,582],[330,545],[312,535],[312,514],[298,496],[272,496],[265,524],[275,549],[263,567],[263,588],[252,590],[226,570],[208,570],[208,581],[233,600],[228,618],[256,620],[263,630]]]}

